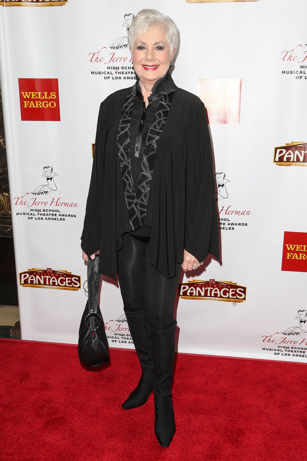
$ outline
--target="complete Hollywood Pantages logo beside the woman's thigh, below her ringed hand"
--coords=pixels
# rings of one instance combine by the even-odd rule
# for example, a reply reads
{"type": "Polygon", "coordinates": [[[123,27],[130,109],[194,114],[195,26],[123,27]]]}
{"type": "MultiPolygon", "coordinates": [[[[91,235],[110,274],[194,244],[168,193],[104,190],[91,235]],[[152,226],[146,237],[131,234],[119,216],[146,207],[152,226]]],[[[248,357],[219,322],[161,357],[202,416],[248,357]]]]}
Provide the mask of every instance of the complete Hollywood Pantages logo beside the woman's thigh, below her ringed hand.
{"type": "Polygon", "coordinates": [[[208,299],[213,301],[246,301],[246,287],[234,282],[216,282],[209,280],[196,280],[179,284],[179,296],[183,299],[208,299]]]}

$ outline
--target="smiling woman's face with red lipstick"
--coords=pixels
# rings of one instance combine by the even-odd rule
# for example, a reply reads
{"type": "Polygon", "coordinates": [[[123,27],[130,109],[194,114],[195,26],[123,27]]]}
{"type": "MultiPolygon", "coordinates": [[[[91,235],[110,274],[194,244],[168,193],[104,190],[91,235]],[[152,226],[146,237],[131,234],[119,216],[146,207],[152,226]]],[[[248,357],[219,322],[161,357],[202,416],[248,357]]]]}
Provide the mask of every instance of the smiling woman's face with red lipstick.
{"type": "Polygon", "coordinates": [[[152,88],[154,83],[168,71],[175,51],[176,48],[171,53],[161,26],[157,25],[147,30],[144,35],[139,35],[133,48],[130,48],[137,76],[145,85],[150,85],[152,88]]]}

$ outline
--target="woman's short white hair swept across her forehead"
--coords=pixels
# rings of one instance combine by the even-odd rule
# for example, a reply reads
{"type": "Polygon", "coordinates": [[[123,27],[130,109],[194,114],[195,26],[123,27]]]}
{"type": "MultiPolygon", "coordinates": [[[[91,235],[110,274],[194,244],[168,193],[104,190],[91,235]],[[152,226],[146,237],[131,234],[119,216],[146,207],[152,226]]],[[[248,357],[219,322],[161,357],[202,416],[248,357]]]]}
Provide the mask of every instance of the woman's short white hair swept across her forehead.
{"type": "Polygon", "coordinates": [[[139,35],[145,34],[147,30],[155,26],[161,26],[168,41],[168,44],[173,53],[174,48],[177,49],[179,41],[179,30],[173,19],[158,10],[143,9],[133,18],[129,26],[127,41],[129,48],[132,49],[134,42],[139,35]]]}

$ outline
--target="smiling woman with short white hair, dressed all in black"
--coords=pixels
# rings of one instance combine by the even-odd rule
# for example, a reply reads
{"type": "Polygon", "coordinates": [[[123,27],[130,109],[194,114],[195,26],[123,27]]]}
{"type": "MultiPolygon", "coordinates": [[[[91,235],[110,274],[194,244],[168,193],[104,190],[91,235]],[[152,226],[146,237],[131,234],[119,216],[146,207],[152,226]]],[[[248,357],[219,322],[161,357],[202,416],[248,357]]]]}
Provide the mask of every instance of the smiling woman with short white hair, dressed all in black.
{"type": "Polygon", "coordinates": [[[169,74],[179,31],[152,9],[133,19],[127,40],[136,83],[100,105],[81,236],[83,259],[100,254],[99,272],[116,272],[141,366],[122,408],[151,391],[155,433],[163,447],[175,432],[171,382],[174,298],[181,267],[219,258],[208,123],[203,102],[169,74]]]}

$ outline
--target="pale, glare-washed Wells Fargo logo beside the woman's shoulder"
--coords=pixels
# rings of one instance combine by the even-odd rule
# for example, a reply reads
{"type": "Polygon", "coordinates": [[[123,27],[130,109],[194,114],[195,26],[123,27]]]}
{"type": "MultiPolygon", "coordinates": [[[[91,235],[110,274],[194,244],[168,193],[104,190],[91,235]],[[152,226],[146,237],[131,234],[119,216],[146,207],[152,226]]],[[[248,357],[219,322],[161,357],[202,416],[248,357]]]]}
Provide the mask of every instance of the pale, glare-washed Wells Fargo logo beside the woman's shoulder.
{"type": "Polygon", "coordinates": [[[210,124],[239,124],[241,78],[198,78],[197,96],[210,124]]]}

